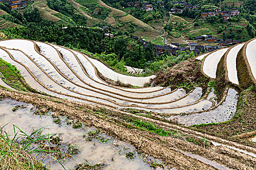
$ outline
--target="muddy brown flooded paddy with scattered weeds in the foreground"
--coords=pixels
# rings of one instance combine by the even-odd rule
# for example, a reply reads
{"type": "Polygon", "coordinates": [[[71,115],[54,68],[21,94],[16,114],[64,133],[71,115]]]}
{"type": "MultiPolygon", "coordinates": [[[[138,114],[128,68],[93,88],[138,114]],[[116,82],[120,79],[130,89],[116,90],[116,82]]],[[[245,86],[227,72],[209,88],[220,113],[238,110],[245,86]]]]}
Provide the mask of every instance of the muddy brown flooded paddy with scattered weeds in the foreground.
{"type": "MultiPolygon", "coordinates": [[[[13,125],[18,126],[22,131],[30,134],[37,128],[44,127],[42,133],[57,133],[61,143],[65,146],[72,145],[78,148],[78,153],[71,158],[66,157],[62,160],[66,170],[74,169],[76,165],[86,163],[104,165],[104,170],[153,170],[149,166],[150,160],[159,162],[152,157],[143,157],[139,155],[135,148],[125,142],[119,141],[111,136],[99,133],[98,138],[87,140],[89,131],[97,131],[95,128],[89,128],[82,125],[81,128],[74,129],[69,125],[68,119],[61,117],[60,124],[53,122],[51,115],[34,115],[36,110],[33,105],[22,102],[16,102],[9,99],[0,101],[0,126],[7,124],[4,130],[12,135],[13,125]],[[17,105],[23,105],[15,112],[12,110],[17,105]],[[132,154],[133,159],[127,158],[127,153],[132,154]],[[134,154],[134,155],[133,155],[134,154]]],[[[63,169],[59,163],[51,158],[43,158],[45,165],[52,170],[63,169]]]]}

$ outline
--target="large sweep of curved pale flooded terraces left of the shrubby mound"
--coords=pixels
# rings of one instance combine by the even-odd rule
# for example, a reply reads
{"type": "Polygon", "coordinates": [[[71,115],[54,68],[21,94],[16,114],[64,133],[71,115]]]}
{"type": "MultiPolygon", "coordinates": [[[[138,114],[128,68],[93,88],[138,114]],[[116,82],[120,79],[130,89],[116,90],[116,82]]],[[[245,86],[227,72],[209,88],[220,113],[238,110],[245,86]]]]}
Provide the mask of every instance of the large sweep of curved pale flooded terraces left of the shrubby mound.
{"type": "Polygon", "coordinates": [[[200,87],[186,94],[183,89],[158,86],[121,88],[108,85],[98,77],[96,69],[114,81],[137,86],[154,76],[119,74],[98,60],[54,44],[12,39],[0,41],[0,46],[2,59],[15,65],[32,88],[60,98],[160,114],[202,112],[214,106],[211,99],[202,99],[200,87]]]}

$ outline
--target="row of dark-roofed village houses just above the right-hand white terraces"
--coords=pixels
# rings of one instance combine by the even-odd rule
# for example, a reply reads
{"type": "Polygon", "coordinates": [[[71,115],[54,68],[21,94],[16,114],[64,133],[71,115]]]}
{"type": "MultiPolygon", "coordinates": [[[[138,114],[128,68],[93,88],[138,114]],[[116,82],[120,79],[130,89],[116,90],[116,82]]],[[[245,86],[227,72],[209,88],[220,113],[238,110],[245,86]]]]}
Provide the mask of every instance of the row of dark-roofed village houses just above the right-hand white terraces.
{"type": "Polygon", "coordinates": [[[232,39],[217,39],[216,37],[212,36],[212,35],[200,35],[200,36],[196,36],[195,39],[197,41],[206,41],[208,43],[218,43],[219,46],[221,47],[225,47],[225,46],[228,46],[228,45],[234,45],[234,44],[237,44],[237,43],[241,43],[240,40],[232,40],[232,39]]]}

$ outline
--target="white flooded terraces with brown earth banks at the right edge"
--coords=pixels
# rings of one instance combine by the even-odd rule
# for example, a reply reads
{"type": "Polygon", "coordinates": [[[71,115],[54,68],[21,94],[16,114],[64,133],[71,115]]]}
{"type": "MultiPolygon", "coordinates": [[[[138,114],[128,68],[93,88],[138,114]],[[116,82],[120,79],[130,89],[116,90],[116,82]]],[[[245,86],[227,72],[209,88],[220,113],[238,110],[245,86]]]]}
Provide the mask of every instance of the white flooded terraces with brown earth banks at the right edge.
{"type": "MultiPolygon", "coordinates": [[[[217,67],[219,65],[220,59],[224,58],[224,69],[226,71],[227,81],[239,85],[239,75],[243,72],[248,72],[248,80],[252,79],[256,83],[256,38],[246,42],[237,44],[236,46],[219,49],[210,53],[205,53],[199,55],[197,60],[202,60],[202,72],[205,76],[215,79],[217,67]],[[239,54],[239,52],[241,52],[239,54]],[[241,55],[242,58],[238,59],[238,55],[241,55]],[[244,61],[241,61],[244,60],[244,61]],[[242,72],[237,71],[238,62],[244,62],[244,67],[247,70],[241,70],[242,72]]],[[[240,67],[241,68],[241,67],[240,67]]],[[[240,76],[240,79],[246,79],[244,76],[240,76]]],[[[242,80],[241,80],[242,81],[242,80]]]]}

